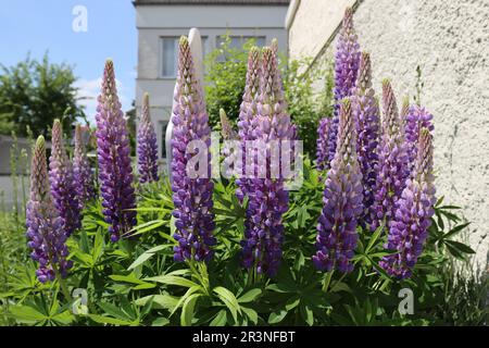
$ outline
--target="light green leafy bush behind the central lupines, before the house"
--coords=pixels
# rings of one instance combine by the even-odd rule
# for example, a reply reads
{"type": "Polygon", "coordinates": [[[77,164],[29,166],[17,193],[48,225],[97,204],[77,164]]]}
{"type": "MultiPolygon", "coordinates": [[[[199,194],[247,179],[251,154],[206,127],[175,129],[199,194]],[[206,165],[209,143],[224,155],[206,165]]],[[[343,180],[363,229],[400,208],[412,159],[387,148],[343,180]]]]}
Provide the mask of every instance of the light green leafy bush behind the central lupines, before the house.
{"type": "MultiPolygon", "coordinates": [[[[235,48],[230,37],[225,36],[221,47],[205,57],[205,101],[213,128],[218,127],[221,108],[231,122],[236,124],[238,120],[248,51],[253,45],[255,40],[250,39],[242,48],[235,48]]],[[[333,115],[333,65],[330,62],[319,62],[306,71],[310,64],[311,59],[288,62],[286,57],[280,57],[288,112],[298,126],[304,152],[315,158],[319,120],[333,115]],[[324,88],[315,92],[313,87],[318,83],[323,83],[324,88]]]]}

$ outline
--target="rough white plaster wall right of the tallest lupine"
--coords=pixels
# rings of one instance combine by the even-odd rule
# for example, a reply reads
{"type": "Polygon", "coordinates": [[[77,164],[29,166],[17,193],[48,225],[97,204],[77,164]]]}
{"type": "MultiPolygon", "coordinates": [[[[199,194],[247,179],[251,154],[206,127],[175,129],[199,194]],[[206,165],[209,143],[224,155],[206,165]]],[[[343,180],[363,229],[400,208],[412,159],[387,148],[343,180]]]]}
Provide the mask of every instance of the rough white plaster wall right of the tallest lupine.
{"type": "MultiPolygon", "coordinates": [[[[438,195],[463,208],[472,222],[468,239],[477,251],[476,260],[485,264],[489,246],[489,1],[364,0],[355,11],[354,25],[361,48],[371,52],[377,94],[381,79],[388,77],[399,100],[414,96],[416,66],[421,65],[422,103],[435,115],[438,195]]],[[[335,45],[322,59],[333,57],[335,45]]]]}

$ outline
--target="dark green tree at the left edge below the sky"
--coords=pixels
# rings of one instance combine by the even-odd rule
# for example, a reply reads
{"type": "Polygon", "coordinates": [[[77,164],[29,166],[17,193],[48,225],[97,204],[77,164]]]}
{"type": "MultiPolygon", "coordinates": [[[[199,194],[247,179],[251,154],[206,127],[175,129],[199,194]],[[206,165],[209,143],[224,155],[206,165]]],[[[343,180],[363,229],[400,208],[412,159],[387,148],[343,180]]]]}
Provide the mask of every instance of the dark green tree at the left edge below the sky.
{"type": "Polygon", "coordinates": [[[48,54],[41,61],[28,55],[16,65],[0,65],[0,133],[26,136],[30,128],[49,136],[54,119],[70,129],[77,117],[85,119],[75,80],[71,65],[50,63],[48,54]]]}

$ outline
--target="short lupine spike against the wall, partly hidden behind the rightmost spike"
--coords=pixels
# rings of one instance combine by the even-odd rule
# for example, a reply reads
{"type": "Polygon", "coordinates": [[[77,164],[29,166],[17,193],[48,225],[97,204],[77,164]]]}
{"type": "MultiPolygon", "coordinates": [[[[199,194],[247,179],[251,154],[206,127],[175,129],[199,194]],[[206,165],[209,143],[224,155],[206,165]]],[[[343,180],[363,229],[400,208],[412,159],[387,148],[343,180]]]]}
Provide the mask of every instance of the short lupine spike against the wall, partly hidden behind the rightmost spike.
{"type": "Polygon", "coordinates": [[[410,169],[413,169],[416,159],[416,142],[422,128],[435,129],[432,114],[421,105],[411,105],[405,114],[405,140],[408,142],[408,153],[410,158],[410,169]]]}

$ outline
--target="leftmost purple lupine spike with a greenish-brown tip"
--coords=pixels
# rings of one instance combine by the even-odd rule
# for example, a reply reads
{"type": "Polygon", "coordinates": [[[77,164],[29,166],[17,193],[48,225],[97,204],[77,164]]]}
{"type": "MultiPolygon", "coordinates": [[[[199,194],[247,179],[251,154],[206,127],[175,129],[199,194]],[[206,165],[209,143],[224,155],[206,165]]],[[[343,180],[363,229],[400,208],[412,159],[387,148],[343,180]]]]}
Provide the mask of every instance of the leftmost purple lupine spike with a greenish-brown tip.
{"type": "Polygon", "coordinates": [[[41,283],[52,282],[57,274],[67,275],[73,266],[66,261],[66,233],[63,219],[54,208],[48,181],[45,138],[40,136],[33,151],[30,166],[30,195],[26,210],[28,247],[33,249],[30,257],[39,263],[36,271],[41,283]]]}

